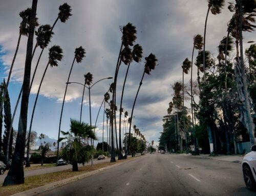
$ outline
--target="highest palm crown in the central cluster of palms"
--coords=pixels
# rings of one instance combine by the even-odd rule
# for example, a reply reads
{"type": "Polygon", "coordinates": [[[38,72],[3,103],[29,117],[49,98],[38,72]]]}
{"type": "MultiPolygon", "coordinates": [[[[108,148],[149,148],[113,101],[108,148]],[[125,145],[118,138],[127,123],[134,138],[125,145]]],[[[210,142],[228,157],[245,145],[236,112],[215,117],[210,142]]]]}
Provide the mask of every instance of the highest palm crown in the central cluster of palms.
{"type": "Polygon", "coordinates": [[[127,46],[133,46],[133,42],[136,40],[136,27],[133,26],[133,24],[128,23],[123,27],[122,30],[123,36],[122,36],[122,43],[124,47],[127,46]]]}

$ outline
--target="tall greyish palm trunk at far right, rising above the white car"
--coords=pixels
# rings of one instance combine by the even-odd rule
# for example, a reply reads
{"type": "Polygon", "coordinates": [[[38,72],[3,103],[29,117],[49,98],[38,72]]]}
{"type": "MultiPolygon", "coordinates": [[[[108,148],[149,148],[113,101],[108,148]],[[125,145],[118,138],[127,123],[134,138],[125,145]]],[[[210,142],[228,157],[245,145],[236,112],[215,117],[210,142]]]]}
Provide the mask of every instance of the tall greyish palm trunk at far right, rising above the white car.
{"type": "Polygon", "coordinates": [[[240,59],[239,59],[239,65],[241,67],[242,72],[242,81],[243,81],[243,93],[244,93],[244,101],[243,101],[243,107],[246,109],[246,120],[247,120],[247,128],[249,132],[250,142],[251,145],[255,144],[255,137],[254,137],[254,129],[255,125],[253,123],[252,117],[251,117],[251,108],[250,108],[250,102],[249,102],[249,94],[248,94],[248,84],[247,84],[247,78],[245,74],[245,66],[244,66],[244,54],[243,54],[243,35],[242,35],[242,0],[239,0],[239,39],[240,39],[240,59]]]}

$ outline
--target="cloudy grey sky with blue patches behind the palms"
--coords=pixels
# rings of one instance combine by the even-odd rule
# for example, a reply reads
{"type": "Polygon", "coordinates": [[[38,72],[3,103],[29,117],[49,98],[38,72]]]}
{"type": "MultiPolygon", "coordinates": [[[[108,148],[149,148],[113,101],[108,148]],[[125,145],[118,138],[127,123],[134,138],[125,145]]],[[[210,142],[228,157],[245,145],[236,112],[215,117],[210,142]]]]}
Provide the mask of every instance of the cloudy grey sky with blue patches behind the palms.
{"type": "MultiPolygon", "coordinates": [[[[144,57],[154,53],[158,66],[151,75],[146,75],[141,87],[133,123],[140,128],[147,141],[157,140],[162,131],[162,117],[166,115],[169,101],[172,100],[172,84],[182,79],[181,64],[188,57],[191,60],[193,36],[203,35],[207,11],[206,0],[44,0],[38,1],[37,17],[40,25],[52,25],[58,14],[58,7],[67,2],[72,8],[72,16],[64,24],[57,22],[54,36],[49,48],[59,45],[63,49],[63,59],[58,67],[50,68],[42,83],[37,102],[32,130],[38,134],[44,133],[57,139],[60,118],[61,101],[74,50],[82,46],[86,49],[86,58],[81,63],[75,63],[70,81],[83,83],[83,74],[91,72],[94,81],[114,76],[115,65],[121,44],[119,26],[132,23],[137,29],[137,40],[143,47],[141,63],[132,63],[127,78],[124,93],[124,111],[131,113],[133,100],[141,79],[144,67],[144,57]]],[[[233,1],[231,1],[233,2],[233,1]]],[[[32,0],[2,1],[0,6],[0,77],[3,80],[9,72],[18,39],[20,17],[18,13],[31,7],[32,0]]],[[[219,15],[209,14],[207,23],[206,50],[216,57],[219,41],[226,35],[227,22],[232,13],[225,8],[219,15]]],[[[244,42],[255,38],[254,33],[244,34],[244,42]]],[[[9,85],[12,112],[23,80],[26,56],[27,37],[22,37],[19,51],[9,85]]],[[[248,45],[245,43],[245,48],[248,45]]],[[[32,62],[32,72],[40,50],[35,53],[32,62]]],[[[195,53],[196,56],[196,53],[195,53]]],[[[39,63],[33,83],[30,101],[28,124],[34,104],[35,94],[47,64],[48,50],[45,50],[39,63]]],[[[126,66],[121,65],[118,77],[117,105],[121,94],[126,66]]],[[[196,75],[195,75],[196,76],[196,75]]],[[[195,77],[196,78],[196,77],[195,77]]],[[[189,75],[185,76],[189,81],[189,75]]],[[[96,120],[103,94],[108,91],[112,80],[97,83],[91,90],[92,122],[96,120]]],[[[82,86],[70,84],[67,92],[65,108],[62,117],[61,130],[68,130],[70,118],[79,119],[82,86]]],[[[83,102],[82,120],[89,122],[89,97],[86,91],[83,102]]],[[[189,105],[186,103],[187,106],[189,105]]],[[[19,113],[19,112],[18,112],[19,113]]],[[[17,114],[18,116],[19,114],[17,114]]],[[[17,129],[17,120],[14,129],[17,129]]],[[[102,140],[103,111],[97,123],[97,135],[102,140]]],[[[104,133],[104,137],[106,134],[104,133]]]]}

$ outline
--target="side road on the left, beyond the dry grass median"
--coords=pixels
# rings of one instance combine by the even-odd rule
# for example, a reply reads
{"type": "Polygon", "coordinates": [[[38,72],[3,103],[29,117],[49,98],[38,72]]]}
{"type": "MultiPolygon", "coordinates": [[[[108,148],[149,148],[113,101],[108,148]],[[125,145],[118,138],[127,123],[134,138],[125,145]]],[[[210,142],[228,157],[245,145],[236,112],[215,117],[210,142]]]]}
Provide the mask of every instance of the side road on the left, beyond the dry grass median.
{"type": "MultiPolygon", "coordinates": [[[[109,162],[110,158],[106,158],[105,160],[93,160],[93,164],[97,164],[97,163],[103,163],[103,162],[109,162]]],[[[84,165],[91,165],[91,161],[89,161],[88,163],[84,164],[84,165]]],[[[78,167],[82,167],[82,164],[79,164],[78,167]]],[[[44,174],[44,173],[52,173],[52,172],[56,172],[56,171],[63,171],[66,169],[71,169],[72,165],[68,164],[68,165],[61,165],[61,166],[57,166],[57,167],[48,167],[48,168],[42,168],[42,169],[34,169],[34,170],[29,170],[29,171],[25,171],[24,172],[24,176],[25,177],[29,177],[29,176],[35,176],[35,175],[40,175],[40,174],[44,174]]],[[[8,171],[5,171],[4,175],[0,175],[0,183],[4,182],[5,177],[7,176],[8,171]]]]}

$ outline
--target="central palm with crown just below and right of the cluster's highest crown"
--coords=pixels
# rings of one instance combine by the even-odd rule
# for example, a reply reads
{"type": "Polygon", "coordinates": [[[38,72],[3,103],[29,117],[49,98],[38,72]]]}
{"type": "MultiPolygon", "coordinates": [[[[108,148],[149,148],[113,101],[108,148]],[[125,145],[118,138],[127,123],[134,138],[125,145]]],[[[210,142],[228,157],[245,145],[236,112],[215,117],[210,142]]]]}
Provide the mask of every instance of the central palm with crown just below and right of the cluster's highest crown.
{"type": "MultiPolygon", "coordinates": [[[[129,49],[127,49],[129,50],[129,49]]],[[[127,75],[128,75],[128,71],[129,71],[129,68],[130,68],[130,64],[131,62],[134,60],[135,62],[140,62],[141,61],[141,58],[142,58],[142,54],[143,54],[143,49],[140,45],[136,44],[134,47],[133,47],[133,52],[130,52],[131,50],[129,50],[128,52],[126,52],[125,54],[131,54],[129,55],[130,59],[128,59],[128,66],[127,66],[127,69],[126,69],[126,73],[125,73],[125,77],[124,77],[124,81],[123,81],[123,88],[122,88],[122,94],[121,94],[121,101],[120,101],[120,113],[119,113],[119,154],[121,154],[121,116],[122,116],[122,102],[123,102],[123,92],[124,92],[124,86],[125,86],[125,82],[126,82],[126,78],[127,78],[127,75]]],[[[126,64],[126,63],[124,63],[126,64]]],[[[121,157],[122,158],[122,157],[121,157]]]]}

